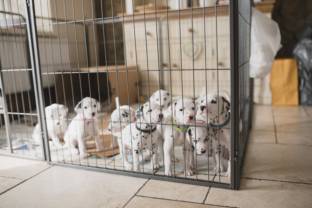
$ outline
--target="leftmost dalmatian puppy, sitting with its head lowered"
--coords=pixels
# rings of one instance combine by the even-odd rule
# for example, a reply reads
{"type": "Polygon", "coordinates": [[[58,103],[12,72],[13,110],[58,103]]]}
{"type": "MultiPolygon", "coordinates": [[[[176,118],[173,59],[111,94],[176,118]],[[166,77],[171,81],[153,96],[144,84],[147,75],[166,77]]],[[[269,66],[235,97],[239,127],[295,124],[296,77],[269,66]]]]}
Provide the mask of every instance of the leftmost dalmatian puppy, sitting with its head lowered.
{"type": "MultiPolygon", "coordinates": [[[[61,134],[67,130],[66,116],[68,108],[61,104],[52,104],[45,108],[46,112],[46,127],[48,131],[48,137],[51,138],[56,148],[61,148],[61,134]]],[[[40,131],[40,125],[37,123],[33,130],[32,137],[35,142],[41,141],[42,134],[40,131]]]]}

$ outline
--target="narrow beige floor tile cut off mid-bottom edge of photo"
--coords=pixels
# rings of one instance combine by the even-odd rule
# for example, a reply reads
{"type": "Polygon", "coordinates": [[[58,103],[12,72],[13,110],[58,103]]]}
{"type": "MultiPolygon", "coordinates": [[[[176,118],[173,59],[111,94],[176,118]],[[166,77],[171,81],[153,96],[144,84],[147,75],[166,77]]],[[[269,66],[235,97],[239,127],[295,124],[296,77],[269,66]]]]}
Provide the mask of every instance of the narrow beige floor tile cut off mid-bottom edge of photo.
{"type": "Polygon", "coordinates": [[[146,208],[154,208],[154,207],[180,207],[180,208],[186,208],[186,207],[216,207],[213,205],[207,205],[207,204],[195,204],[190,202],[184,202],[184,201],[173,201],[173,200],[165,200],[165,199],[154,199],[154,198],[148,198],[148,197],[142,197],[142,196],[135,196],[128,204],[125,206],[125,208],[131,208],[131,207],[146,207],[146,208]]]}

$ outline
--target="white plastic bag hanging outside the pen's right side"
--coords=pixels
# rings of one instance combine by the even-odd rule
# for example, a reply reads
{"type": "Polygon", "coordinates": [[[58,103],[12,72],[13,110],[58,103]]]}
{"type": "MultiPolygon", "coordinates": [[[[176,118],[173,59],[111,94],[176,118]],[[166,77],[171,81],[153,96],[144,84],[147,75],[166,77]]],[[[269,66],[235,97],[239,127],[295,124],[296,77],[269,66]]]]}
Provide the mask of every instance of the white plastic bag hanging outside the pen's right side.
{"type": "Polygon", "coordinates": [[[270,73],[277,51],[280,50],[278,24],[265,14],[251,7],[251,46],[249,76],[262,78],[270,73]]]}

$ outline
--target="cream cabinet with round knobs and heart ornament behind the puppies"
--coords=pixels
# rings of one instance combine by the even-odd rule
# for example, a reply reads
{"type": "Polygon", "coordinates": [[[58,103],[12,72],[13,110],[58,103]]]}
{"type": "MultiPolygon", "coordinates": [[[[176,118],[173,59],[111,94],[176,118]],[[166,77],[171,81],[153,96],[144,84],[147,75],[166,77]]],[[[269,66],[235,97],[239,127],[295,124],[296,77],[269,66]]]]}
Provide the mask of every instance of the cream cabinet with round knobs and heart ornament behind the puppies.
{"type": "Polygon", "coordinates": [[[124,22],[127,65],[149,70],[140,72],[140,95],[148,97],[148,90],[153,93],[160,82],[173,95],[181,95],[183,87],[183,95],[192,98],[206,86],[208,93],[217,87],[230,91],[229,27],[228,15],[217,16],[217,31],[214,15],[179,19],[170,14],[168,22],[167,17],[158,19],[157,30],[155,18],[146,19],[145,24],[142,20],[124,22]],[[162,72],[158,72],[159,59],[162,72]]]}

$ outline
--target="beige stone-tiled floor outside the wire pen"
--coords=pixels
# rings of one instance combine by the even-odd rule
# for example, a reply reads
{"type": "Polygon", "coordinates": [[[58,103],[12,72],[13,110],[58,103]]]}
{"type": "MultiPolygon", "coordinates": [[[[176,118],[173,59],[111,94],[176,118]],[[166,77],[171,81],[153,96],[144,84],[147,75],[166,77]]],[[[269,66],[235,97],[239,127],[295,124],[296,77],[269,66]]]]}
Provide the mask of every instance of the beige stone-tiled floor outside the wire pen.
{"type": "Polygon", "coordinates": [[[0,207],[311,207],[312,107],[255,105],[238,191],[0,156],[0,207]]]}

